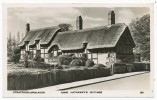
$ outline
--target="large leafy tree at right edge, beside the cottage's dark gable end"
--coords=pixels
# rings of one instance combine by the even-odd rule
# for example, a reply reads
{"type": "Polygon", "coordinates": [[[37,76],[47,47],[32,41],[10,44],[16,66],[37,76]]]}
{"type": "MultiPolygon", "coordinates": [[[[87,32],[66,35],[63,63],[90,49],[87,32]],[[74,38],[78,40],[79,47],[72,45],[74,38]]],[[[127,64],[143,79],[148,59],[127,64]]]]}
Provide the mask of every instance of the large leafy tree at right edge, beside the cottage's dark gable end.
{"type": "Polygon", "coordinates": [[[135,53],[141,54],[144,60],[150,60],[150,15],[136,18],[130,23],[130,31],[134,38],[135,53]]]}

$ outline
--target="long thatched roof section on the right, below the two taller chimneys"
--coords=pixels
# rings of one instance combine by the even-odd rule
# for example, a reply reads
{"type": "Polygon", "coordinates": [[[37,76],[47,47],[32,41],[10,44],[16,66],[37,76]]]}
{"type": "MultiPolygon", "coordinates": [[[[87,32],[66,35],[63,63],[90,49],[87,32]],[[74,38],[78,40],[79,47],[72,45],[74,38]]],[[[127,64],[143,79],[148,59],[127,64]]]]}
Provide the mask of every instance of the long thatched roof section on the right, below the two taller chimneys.
{"type": "MultiPolygon", "coordinates": [[[[87,43],[87,49],[115,47],[126,29],[128,29],[127,25],[118,23],[111,26],[59,32],[49,49],[57,45],[61,50],[77,50],[84,48],[83,43],[87,43]]],[[[134,47],[133,39],[131,42],[134,47]]]]}

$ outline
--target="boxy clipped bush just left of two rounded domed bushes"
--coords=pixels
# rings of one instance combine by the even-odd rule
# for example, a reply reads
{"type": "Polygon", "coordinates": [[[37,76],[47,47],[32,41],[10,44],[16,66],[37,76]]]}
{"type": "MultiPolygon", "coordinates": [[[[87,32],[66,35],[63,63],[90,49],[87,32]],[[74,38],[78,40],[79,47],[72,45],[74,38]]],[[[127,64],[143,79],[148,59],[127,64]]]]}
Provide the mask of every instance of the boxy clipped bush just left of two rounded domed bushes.
{"type": "Polygon", "coordinates": [[[69,55],[60,55],[58,58],[59,65],[70,65],[72,57],[69,55]]]}

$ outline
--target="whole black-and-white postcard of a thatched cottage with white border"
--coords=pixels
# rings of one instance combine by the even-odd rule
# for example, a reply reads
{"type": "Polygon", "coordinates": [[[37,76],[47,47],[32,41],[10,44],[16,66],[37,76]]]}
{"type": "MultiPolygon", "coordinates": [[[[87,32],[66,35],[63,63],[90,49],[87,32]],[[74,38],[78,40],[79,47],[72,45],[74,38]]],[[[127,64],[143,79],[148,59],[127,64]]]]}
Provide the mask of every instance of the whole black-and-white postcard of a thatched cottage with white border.
{"type": "Polygon", "coordinates": [[[153,4],[4,4],[5,97],[153,97],[153,4]]]}

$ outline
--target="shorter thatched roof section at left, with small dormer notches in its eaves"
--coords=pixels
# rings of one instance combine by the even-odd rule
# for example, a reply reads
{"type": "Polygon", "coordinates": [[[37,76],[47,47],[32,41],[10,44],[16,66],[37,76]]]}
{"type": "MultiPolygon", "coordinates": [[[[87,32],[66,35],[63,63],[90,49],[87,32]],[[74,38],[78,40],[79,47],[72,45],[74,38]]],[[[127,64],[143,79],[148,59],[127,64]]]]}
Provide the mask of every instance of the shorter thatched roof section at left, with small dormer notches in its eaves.
{"type": "Polygon", "coordinates": [[[30,46],[34,45],[35,40],[40,40],[40,44],[48,44],[58,30],[59,28],[57,26],[31,30],[25,35],[18,46],[23,46],[25,41],[29,41],[30,46]]]}

